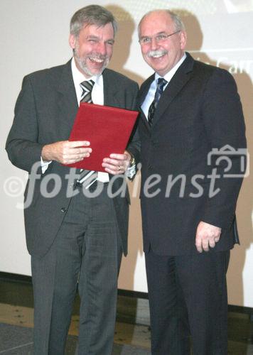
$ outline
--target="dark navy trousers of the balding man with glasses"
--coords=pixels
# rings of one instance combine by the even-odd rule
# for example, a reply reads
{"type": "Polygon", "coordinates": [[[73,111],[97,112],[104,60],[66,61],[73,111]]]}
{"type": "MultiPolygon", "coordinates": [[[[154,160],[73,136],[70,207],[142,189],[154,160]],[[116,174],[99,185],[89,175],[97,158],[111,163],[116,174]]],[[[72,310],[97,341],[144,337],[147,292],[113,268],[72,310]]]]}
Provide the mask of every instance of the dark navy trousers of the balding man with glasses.
{"type": "Polygon", "coordinates": [[[227,355],[230,251],[146,253],[152,355],[227,355]]]}

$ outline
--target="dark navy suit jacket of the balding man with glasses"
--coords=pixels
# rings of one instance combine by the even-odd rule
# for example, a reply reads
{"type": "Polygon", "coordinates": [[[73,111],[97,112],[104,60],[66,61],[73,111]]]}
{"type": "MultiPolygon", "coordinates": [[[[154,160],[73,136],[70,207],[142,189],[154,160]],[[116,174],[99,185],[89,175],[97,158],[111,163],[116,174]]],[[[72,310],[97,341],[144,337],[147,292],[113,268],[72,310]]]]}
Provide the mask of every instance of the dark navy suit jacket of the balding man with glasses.
{"type": "MultiPolygon", "coordinates": [[[[153,80],[154,75],[142,84],[140,106],[153,80]]],[[[242,178],[223,177],[227,163],[217,160],[220,155],[212,156],[208,165],[212,148],[246,147],[242,106],[232,75],[195,61],[187,53],[161,96],[151,129],[141,114],[139,135],[144,250],[151,245],[159,254],[197,252],[195,232],[200,221],[222,228],[215,250],[232,248],[242,178]],[[220,192],[214,197],[209,196],[212,172],[221,175],[215,180],[215,190],[220,192]],[[159,178],[154,174],[161,181],[148,192],[161,191],[155,197],[147,197],[145,182],[157,182],[159,178]],[[169,197],[165,197],[166,187],[171,187],[169,197]]],[[[229,173],[239,173],[240,155],[225,155],[232,163],[229,173]]]]}

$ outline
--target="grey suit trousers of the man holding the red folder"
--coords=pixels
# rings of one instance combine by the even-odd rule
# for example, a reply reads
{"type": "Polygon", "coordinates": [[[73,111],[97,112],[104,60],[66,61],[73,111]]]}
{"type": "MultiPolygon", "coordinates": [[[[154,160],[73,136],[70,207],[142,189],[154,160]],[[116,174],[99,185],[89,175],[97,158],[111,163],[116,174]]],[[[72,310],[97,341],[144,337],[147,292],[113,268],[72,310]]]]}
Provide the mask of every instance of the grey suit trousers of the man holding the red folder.
{"type": "Polygon", "coordinates": [[[48,253],[32,256],[34,354],[64,354],[77,285],[78,354],[112,353],[121,258],[114,205],[106,189],[95,198],[82,193],[73,197],[48,253]]]}

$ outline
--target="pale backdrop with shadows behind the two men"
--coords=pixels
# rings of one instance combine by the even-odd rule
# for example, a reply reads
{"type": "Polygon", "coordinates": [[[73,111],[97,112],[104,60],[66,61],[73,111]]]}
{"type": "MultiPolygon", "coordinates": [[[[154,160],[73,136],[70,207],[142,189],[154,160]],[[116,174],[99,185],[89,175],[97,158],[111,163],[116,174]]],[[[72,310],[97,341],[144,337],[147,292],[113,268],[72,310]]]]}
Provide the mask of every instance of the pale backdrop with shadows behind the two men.
{"type": "MultiPolygon", "coordinates": [[[[0,271],[31,275],[23,226],[23,190],[27,175],[9,162],[4,145],[24,75],[69,60],[69,21],[87,1],[1,0],[1,244],[0,271]]],[[[146,11],[173,9],[188,32],[187,50],[197,60],[224,67],[237,82],[253,153],[253,1],[252,0],[122,0],[93,1],[110,9],[119,21],[109,67],[139,84],[152,70],[141,58],[136,26],[146,11]]],[[[224,98],[225,99],[225,98],[224,98]]],[[[129,255],[122,261],[119,288],[147,292],[142,251],[139,178],[129,183],[131,209],[129,255]]],[[[253,175],[244,179],[237,206],[241,245],[231,253],[228,294],[231,305],[253,307],[253,175]]],[[[41,212],[43,213],[43,212],[41,212]]],[[[169,219],[169,216],[168,216],[169,219]]]]}

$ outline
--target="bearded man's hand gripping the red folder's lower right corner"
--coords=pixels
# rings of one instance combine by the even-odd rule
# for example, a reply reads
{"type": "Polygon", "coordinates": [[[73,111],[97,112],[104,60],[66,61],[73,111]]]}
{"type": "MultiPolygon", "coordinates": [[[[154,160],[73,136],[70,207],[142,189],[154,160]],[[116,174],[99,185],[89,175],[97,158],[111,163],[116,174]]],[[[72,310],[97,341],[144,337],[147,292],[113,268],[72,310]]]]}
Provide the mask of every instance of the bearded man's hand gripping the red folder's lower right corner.
{"type": "Polygon", "coordinates": [[[109,158],[104,158],[102,166],[109,174],[124,174],[129,167],[130,160],[131,155],[124,151],[124,154],[110,154],[109,158]]]}

